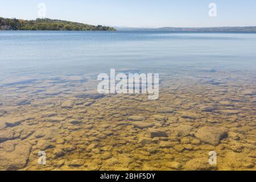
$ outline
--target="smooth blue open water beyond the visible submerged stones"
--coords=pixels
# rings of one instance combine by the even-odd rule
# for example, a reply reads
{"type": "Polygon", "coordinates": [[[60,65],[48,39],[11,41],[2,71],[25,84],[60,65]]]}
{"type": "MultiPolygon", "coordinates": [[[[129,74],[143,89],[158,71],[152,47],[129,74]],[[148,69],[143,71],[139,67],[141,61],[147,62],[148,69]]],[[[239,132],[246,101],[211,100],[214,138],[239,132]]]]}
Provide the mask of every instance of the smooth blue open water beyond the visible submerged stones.
{"type": "Polygon", "coordinates": [[[168,32],[0,32],[0,79],[15,75],[255,71],[256,34],[168,32]]]}

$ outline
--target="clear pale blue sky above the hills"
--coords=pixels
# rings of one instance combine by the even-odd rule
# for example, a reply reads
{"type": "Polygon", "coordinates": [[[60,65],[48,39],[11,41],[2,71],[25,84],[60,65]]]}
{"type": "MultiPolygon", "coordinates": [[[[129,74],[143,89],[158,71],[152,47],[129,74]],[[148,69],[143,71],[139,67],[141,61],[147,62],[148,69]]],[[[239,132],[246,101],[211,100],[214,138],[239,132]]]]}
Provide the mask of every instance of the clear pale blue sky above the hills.
{"type": "Polygon", "coordinates": [[[116,27],[256,26],[255,0],[0,0],[0,17],[46,18],[116,27]],[[216,4],[216,17],[209,4],[216,4]]]}

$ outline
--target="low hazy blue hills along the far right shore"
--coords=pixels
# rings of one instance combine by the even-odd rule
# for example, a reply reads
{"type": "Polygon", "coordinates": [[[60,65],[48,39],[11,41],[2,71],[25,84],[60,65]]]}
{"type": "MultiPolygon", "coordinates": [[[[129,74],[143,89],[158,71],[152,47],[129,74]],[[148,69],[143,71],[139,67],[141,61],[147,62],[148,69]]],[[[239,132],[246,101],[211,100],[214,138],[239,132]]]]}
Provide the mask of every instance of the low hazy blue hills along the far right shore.
{"type": "Polygon", "coordinates": [[[162,27],[162,28],[129,28],[115,27],[119,31],[166,31],[166,32],[256,32],[254,27],[203,27],[203,28],[179,28],[179,27],[162,27]]]}

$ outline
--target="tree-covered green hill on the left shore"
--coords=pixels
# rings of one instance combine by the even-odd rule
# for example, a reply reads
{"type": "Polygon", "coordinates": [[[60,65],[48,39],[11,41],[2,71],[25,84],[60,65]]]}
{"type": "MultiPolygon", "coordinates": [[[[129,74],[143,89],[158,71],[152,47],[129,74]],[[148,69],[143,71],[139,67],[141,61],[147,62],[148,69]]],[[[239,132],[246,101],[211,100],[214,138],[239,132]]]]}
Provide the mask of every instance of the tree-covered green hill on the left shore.
{"type": "Polygon", "coordinates": [[[0,30],[115,31],[115,28],[48,18],[23,20],[0,17],[0,30]]]}

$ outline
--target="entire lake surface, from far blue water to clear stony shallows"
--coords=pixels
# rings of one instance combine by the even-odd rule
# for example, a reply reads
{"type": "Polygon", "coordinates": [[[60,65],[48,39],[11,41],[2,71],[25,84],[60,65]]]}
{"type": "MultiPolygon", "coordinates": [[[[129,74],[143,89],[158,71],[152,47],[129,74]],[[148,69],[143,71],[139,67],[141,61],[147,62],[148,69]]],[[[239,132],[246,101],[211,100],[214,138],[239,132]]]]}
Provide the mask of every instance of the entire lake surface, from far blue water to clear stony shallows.
{"type": "Polygon", "coordinates": [[[255,49],[256,34],[1,31],[0,169],[255,170],[255,49]],[[111,68],[159,73],[159,99],[101,96],[111,68]]]}

